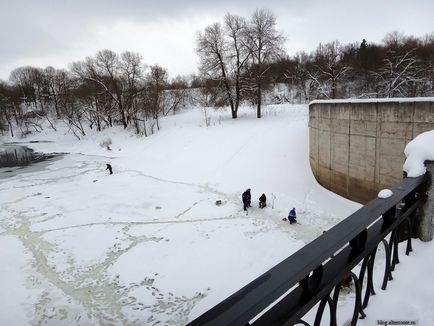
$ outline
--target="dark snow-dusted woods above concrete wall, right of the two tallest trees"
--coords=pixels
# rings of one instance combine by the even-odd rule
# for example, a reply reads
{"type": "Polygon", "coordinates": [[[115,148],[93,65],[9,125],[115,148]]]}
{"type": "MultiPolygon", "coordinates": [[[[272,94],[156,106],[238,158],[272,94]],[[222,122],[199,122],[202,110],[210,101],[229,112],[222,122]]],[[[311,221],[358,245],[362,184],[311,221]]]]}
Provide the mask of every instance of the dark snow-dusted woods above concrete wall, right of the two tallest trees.
{"type": "Polygon", "coordinates": [[[320,44],[273,63],[269,82],[286,83],[300,101],[434,96],[434,33],[388,34],[382,44],[320,44]]]}

